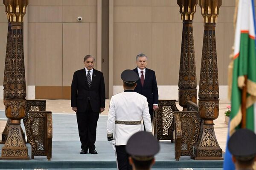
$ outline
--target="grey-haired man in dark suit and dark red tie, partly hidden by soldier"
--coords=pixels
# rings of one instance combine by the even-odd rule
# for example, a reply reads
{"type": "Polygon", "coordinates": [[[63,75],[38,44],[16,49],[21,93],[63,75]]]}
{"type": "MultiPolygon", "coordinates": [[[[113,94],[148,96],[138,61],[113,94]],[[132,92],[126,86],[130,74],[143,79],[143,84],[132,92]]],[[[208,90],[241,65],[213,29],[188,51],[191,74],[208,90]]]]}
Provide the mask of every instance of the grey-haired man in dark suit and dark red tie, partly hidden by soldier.
{"type": "Polygon", "coordinates": [[[151,123],[153,120],[153,112],[158,109],[158,89],[157,79],[155,72],[151,69],[146,68],[148,57],[140,53],[136,56],[137,68],[133,71],[136,72],[140,80],[138,80],[137,86],[134,91],[144,95],[148,101],[148,109],[151,117],[151,123]]]}

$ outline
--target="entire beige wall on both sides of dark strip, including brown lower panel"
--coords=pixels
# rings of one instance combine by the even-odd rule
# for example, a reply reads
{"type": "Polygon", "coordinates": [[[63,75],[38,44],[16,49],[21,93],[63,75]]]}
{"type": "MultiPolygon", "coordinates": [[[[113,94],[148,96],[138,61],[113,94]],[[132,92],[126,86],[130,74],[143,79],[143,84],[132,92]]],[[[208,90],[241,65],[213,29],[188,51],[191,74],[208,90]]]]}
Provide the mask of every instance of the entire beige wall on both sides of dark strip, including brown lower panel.
{"type": "MultiPolygon", "coordinates": [[[[73,72],[83,67],[84,55],[99,58],[96,68],[98,65],[101,69],[100,61],[104,56],[101,57],[100,51],[99,2],[101,0],[29,0],[26,81],[29,86],[35,86],[36,97],[38,94],[44,98],[50,93],[50,98],[69,98],[73,72]],[[78,16],[83,18],[80,23],[78,16]]],[[[121,72],[136,67],[135,56],[140,52],[148,55],[148,68],[156,71],[158,85],[177,85],[182,34],[177,0],[110,2],[113,8],[110,8],[109,35],[113,35],[110,37],[113,55],[110,49],[109,85],[122,85],[121,72]]],[[[235,0],[223,0],[216,24],[220,85],[227,85],[227,66],[234,37],[234,6],[235,0]]],[[[5,8],[0,3],[0,86],[3,85],[7,27],[5,8]]],[[[204,31],[199,6],[193,28],[199,84],[204,31]]]]}

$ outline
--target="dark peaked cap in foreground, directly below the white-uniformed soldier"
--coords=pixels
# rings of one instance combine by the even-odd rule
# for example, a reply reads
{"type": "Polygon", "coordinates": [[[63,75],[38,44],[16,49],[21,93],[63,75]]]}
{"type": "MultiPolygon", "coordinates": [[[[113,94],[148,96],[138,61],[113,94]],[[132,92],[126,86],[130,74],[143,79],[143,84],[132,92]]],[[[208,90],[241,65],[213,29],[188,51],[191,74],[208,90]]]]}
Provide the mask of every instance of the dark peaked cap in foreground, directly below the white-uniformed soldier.
{"type": "Polygon", "coordinates": [[[134,159],[147,161],[154,157],[160,150],[158,141],[151,133],[140,131],[129,138],[126,152],[134,159]]]}

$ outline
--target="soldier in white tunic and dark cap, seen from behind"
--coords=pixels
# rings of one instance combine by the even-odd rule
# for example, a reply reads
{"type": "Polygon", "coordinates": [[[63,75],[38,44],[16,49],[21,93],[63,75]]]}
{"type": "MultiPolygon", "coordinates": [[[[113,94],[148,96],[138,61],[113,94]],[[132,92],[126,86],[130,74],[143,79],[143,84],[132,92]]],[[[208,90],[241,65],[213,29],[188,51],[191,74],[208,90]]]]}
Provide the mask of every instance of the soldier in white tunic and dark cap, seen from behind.
{"type": "Polygon", "coordinates": [[[124,92],[112,96],[108,111],[108,141],[116,146],[119,170],[129,170],[128,154],[125,145],[134,133],[143,130],[142,119],[146,132],[152,133],[151,119],[148,112],[147,98],[134,92],[139,76],[132,70],[121,74],[124,81],[124,92]]]}

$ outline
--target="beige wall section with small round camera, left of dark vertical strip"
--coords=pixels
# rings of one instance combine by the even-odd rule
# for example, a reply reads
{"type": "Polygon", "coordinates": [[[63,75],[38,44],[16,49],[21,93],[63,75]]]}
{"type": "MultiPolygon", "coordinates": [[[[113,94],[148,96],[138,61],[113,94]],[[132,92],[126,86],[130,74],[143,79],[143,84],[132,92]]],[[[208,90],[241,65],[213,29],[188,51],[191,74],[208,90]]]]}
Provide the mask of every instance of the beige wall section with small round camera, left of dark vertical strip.
{"type": "Polygon", "coordinates": [[[97,57],[96,0],[32,0],[28,9],[29,85],[70,86],[83,57],[97,57]]]}

